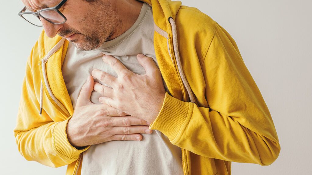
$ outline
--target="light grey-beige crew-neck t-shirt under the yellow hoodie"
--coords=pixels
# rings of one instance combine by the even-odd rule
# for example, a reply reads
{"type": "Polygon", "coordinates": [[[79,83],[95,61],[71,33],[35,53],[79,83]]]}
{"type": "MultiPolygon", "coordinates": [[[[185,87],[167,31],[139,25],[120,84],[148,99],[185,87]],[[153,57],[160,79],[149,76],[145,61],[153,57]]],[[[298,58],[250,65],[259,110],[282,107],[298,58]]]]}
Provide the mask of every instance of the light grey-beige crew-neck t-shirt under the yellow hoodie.
{"type": "MultiPolygon", "coordinates": [[[[152,57],[158,66],[154,50],[152,8],[144,3],[134,25],[114,40],[105,42],[97,50],[80,51],[72,43],[69,44],[62,73],[74,108],[79,92],[93,69],[117,77],[110,65],[103,62],[101,52],[113,55],[127,69],[137,74],[145,74],[144,68],[138,63],[137,54],[142,53],[152,57]]],[[[168,92],[165,83],[164,86],[168,92]]],[[[101,104],[98,101],[100,96],[100,93],[93,91],[91,102],[101,104]]],[[[83,153],[81,174],[183,174],[181,148],[171,144],[169,139],[158,130],[154,130],[150,135],[142,135],[141,141],[115,140],[92,145],[83,153]]]]}

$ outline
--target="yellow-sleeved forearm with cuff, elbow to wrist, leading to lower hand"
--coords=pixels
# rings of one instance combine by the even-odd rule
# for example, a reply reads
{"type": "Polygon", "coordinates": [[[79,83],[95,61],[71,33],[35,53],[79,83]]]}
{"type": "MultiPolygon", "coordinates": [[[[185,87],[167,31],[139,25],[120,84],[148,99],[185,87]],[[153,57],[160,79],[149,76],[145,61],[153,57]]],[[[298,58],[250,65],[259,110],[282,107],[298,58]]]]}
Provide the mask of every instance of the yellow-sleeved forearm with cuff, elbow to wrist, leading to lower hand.
{"type": "Polygon", "coordinates": [[[66,123],[50,122],[27,131],[15,130],[19,152],[27,160],[50,167],[61,167],[74,162],[85,149],[71,146],[66,136],[66,123]]]}

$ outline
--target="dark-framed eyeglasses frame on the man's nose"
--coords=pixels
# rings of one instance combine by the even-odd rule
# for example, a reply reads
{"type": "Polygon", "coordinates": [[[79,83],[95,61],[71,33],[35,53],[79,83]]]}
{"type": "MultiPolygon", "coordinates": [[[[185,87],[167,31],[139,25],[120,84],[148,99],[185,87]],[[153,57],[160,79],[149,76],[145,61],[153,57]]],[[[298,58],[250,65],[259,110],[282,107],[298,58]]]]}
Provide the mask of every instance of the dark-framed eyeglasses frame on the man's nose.
{"type": "MultiPolygon", "coordinates": [[[[25,15],[25,14],[32,14],[32,15],[36,16],[39,20],[40,20],[40,17],[42,17],[43,19],[45,19],[46,21],[48,21],[48,22],[50,22],[50,23],[52,23],[52,24],[64,24],[64,23],[67,21],[67,18],[59,11],[59,9],[62,7],[62,5],[65,4],[66,1],[67,1],[67,0],[62,0],[59,4],[57,4],[57,5],[54,6],[54,7],[44,8],[44,9],[41,9],[41,10],[39,10],[39,11],[37,11],[37,12],[25,12],[25,11],[27,10],[27,8],[26,8],[26,6],[25,6],[17,15],[20,16],[20,17],[22,17],[22,18],[23,18],[24,20],[26,20],[26,21],[28,21],[28,20],[25,19],[22,15],[25,15]],[[55,22],[52,22],[52,21],[46,19],[45,17],[41,16],[40,12],[50,11],[50,10],[53,10],[53,11],[58,12],[58,13],[61,15],[61,17],[64,18],[64,21],[61,22],[61,23],[55,23],[55,22]]],[[[41,20],[40,20],[40,21],[41,21],[41,20]]],[[[30,21],[28,21],[28,22],[31,23],[30,21]]],[[[37,27],[42,27],[42,25],[41,25],[41,26],[38,26],[38,25],[33,24],[33,23],[31,23],[31,24],[34,25],[34,26],[37,26],[37,27]]]]}

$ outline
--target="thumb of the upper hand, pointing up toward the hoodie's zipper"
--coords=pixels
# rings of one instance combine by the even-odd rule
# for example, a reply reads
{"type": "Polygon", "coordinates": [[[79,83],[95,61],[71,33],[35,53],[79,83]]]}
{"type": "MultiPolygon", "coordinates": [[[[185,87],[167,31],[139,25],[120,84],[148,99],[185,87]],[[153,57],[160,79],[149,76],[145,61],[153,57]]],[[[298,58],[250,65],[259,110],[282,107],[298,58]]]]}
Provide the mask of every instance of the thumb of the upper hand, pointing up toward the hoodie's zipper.
{"type": "Polygon", "coordinates": [[[139,64],[145,69],[145,75],[149,77],[161,76],[160,70],[151,57],[147,57],[144,54],[138,54],[137,59],[139,64]]]}

